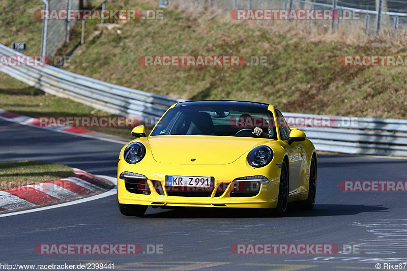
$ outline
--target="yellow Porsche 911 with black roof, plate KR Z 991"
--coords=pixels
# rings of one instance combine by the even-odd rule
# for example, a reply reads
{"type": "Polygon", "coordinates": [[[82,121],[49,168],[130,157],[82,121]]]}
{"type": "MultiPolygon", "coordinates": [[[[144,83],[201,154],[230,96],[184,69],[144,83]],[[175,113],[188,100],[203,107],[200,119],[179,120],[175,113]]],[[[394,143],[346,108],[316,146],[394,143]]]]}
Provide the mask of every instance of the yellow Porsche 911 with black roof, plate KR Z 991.
{"type": "Polygon", "coordinates": [[[171,106],[149,136],[119,157],[119,209],[142,216],[149,205],[267,208],[315,202],[317,158],[305,134],[274,106],[189,101],[171,106]]]}

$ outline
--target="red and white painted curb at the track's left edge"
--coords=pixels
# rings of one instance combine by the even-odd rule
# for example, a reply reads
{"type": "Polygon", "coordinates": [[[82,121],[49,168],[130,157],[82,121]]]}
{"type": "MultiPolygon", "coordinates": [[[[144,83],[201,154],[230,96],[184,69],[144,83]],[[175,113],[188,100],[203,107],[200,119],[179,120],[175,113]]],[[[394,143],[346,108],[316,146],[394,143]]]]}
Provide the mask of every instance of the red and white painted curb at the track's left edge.
{"type": "Polygon", "coordinates": [[[0,191],[0,212],[91,196],[114,187],[105,179],[73,169],[75,174],[68,178],[0,191]]]}

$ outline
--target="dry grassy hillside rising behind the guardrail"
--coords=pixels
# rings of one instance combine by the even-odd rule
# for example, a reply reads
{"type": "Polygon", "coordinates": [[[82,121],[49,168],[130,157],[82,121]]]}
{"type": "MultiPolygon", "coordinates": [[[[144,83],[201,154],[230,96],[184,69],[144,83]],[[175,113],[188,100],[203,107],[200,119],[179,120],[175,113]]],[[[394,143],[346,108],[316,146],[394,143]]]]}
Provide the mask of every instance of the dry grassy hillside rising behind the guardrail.
{"type": "MultiPolygon", "coordinates": [[[[31,12],[36,8],[31,5],[23,10],[31,12]]],[[[158,8],[158,2],[110,0],[106,8],[151,10],[158,8]]],[[[0,33],[4,35],[14,29],[15,23],[22,25],[18,29],[26,29],[23,26],[31,20],[21,17],[18,22],[10,20],[1,25],[0,33]]],[[[404,36],[393,44],[383,43],[383,37],[372,41],[361,38],[360,42],[353,37],[350,42],[352,39],[342,37],[340,33],[304,33],[300,26],[287,26],[286,22],[265,27],[232,21],[224,13],[192,13],[176,8],[165,11],[162,20],[121,24],[112,29],[103,27],[100,35],[79,47],[67,70],[183,99],[261,101],[289,112],[407,117],[405,67],[348,68],[338,65],[341,55],[406,54],[405,43],[400,42],[404,36]],[[137,61],[143,55],[267,56],[268,65],[142,67],[137,61]]],[[[92,22],[86,29],[96,31],[99,28],[92,22]]],[[[1,42],[10,43],[26,34],[14,33],[16,38],[2,36],[1,42]]]]}

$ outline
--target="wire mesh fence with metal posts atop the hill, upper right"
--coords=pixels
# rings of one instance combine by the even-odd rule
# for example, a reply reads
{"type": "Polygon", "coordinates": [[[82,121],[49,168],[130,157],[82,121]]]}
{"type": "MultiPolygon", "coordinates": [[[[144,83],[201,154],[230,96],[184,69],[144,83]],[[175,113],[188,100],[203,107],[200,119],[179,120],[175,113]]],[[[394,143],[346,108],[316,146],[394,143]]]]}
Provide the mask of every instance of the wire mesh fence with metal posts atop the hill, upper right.
{"type": "Polygon", "coordinates": [[[331,21],[305,20],[309,27],[327,31],[344,29],[374,36],[380,31],[397,34],[407,25],[407,0],[169,0],[169,5],[189,10],[208,7],[230,13],[232,10],[335,10],[331,21]]]}

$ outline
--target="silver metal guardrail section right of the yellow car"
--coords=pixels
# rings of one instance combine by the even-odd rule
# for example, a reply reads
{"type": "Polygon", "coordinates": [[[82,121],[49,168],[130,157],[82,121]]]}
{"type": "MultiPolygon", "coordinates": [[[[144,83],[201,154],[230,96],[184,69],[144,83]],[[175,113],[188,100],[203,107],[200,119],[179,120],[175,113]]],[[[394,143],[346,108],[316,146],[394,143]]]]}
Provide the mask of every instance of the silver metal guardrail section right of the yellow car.
{"type": "Polygon", "coordinates": [[[392,155],[407,157],[407,120],[324,116],[283,113],[288,123],[290,117],[330,119],[355,122],[355,125],[334,127],[301,127],[315,148],[327,152],[347,154],[392,155]]]}

